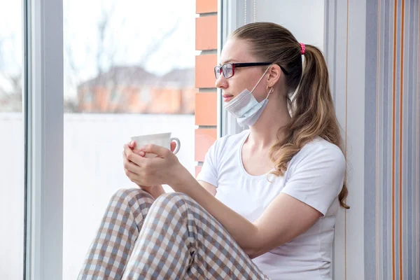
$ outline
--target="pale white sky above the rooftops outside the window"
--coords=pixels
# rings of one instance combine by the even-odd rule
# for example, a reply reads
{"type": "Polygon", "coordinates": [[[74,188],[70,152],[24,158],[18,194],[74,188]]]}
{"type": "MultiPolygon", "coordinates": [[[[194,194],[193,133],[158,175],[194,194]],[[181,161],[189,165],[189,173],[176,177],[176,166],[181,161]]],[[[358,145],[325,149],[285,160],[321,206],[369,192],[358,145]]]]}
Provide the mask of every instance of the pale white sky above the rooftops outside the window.
{"type": "MultiPolygon", "coordinates": [[[[63,10],[65,87],[94,77],[98,61],[103,69],[112,61],[142,65],[156,74],[194,67],[195,0],[63,0],[63,10]],[[98,25],[103,15],[111,20],[105,55],[98,59],[98,25]],[[171,29],[173,33],[165,36],[171,29]]],[[[0,57],[0,71],[20,71],[22,1],[0,0],[0,42],[0,51],[6,54],[0,57]]]]}

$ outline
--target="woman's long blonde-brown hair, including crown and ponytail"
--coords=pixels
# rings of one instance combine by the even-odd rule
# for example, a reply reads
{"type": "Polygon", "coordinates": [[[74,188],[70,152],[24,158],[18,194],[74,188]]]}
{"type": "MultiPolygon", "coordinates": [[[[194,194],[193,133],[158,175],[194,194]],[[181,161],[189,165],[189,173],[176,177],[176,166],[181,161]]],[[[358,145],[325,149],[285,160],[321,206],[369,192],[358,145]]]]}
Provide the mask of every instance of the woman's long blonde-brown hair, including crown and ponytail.
{"type": "MultiPolygon", "coordinates": [[[[288,72],[285,78],[291,120],[284,127],[286,137],[270,149],[269,157],[275,164],[272,174],[283,176],[288,162],[315,137],[321,137],[343,151],[330,92],[328,69],[321,50],[314,45],[305,45],[302,66],[300,43],[288,29],[271,22],[244,25],[235,30],[231,38],[247,41],[255,57],[265,62],[274,62],[288,72]],[[275,158],[274,155],[279,157],[275,158]]],[[[345,203],[347,193],[344,179],[344,186],[338,198],[340,205],[349,209],[345,203]]]]}

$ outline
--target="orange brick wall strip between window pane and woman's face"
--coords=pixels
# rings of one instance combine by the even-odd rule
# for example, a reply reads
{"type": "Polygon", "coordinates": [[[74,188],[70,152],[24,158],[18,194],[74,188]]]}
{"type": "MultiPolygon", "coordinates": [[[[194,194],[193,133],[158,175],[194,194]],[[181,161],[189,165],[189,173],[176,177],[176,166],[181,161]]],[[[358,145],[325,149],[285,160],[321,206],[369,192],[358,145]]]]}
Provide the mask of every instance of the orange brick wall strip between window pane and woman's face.
{"type": "Polygon", "coordinates": [[[195,174],[200,172],[204,156],[217,138],[217,95],[214,66],[217,64],[217,0],[196,0],[195,50],[195,174]],[[207,89],[203,92],[202,89],[207,89]]]}

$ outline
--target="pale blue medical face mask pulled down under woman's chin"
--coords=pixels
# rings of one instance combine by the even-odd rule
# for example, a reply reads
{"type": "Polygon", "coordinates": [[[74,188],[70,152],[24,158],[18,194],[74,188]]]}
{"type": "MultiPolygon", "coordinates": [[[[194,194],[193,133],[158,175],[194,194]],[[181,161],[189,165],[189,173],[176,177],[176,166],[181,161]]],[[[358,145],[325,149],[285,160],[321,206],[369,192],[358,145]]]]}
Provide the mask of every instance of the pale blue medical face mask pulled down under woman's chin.
{"type": "MultiPolygon", "coordinates": [[[[268,69],[269,67],[262,74],[260,80],[258,80],[255,87],[257,87],[257,85],[260,83],[265,73],[267,73],[268,69]]],[[[235,116],[235,118],[237,119],[237,123],[241,127],[245,127],[246,125],[254,125],[257,122],[258,118],[260,118],[262,111],[264,111],[265,109],[265,106],[267,106],[268,96],[271,92],[267,94],[267,97],[265,97],[265,99],[262,100],[262,102],[258,102],[252,94],[252,92],[255,90],[255,87],[253,87],[251,92],[245,89],[230,102],[225,103],[226,111],[235,116]]]]}

